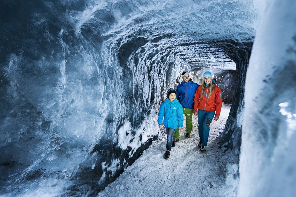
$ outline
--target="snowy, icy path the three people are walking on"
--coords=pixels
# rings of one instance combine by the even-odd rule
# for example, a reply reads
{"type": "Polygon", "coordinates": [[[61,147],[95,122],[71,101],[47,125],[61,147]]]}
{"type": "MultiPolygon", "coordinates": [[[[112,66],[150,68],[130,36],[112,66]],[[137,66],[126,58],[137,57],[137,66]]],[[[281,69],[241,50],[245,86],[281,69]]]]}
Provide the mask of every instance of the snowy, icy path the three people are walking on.
{"type": "Polygon", "coordinates": [[[219,120],[211,123],[206,152],[200,152],[197,147],[197,116],[194,116],[191,137],[185,138],[186,131],[182,129],[180,141],[172,148],[168,160],[163,158],[165,135],[154,141],[98,196],[235,196],[237,180],[227,177],[227,169],[232,169],[228,164],[230,155],[222,153],[217,145],[229,110],[230,106],[223,105],[219,120]]]}

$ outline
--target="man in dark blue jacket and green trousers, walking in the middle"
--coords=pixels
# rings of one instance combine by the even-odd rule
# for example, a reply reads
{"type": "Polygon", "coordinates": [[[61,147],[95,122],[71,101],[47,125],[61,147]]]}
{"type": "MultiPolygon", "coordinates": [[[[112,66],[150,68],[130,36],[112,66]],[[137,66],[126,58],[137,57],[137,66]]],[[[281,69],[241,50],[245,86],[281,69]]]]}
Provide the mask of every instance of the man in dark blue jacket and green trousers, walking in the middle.
{"type": "MultiPolygon", "coordinates": [[[[186,138],[190,138],[190,134],[192,131],[192,114],[193,114],[193,106],[194,106],[194,95],[199,84],[194,83],[190,78],[188,71],[183,71],[182,73],[183,81],[181,84],[177,86],[177,99],[181,103],[183,107],[183,112],[186,116],[186,138]]],[[[176,137],[175,141],[173,141],[172,147],[176,145],[176,141],[179,141],[179,130],[176,129],[174,136],[176,137]]]]}

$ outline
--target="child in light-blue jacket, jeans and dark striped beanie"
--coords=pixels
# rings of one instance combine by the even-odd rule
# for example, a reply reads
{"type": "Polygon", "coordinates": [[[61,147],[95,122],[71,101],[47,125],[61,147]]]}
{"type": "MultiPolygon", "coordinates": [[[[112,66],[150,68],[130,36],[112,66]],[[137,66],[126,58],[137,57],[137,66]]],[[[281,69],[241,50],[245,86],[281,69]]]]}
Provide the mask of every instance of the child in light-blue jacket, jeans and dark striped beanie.
{"type": "Polygon", "coordinates": [[[169,88],[167,92],[166,100],[161,103],[158,112],[158,126],[161,129],[162,123],[166,127],[167,134],[167,143],[166,143],[166,153],[164,154],[164,158],[169,158],[169,152],[171,151],[174,137],[175,129],[179,129],[179,131],[183,127],[183,108],[179,101],[176,99],[176,91],[173,88],[169,88]],[[164,120],[163,120],[164,116],[164,120]]]}

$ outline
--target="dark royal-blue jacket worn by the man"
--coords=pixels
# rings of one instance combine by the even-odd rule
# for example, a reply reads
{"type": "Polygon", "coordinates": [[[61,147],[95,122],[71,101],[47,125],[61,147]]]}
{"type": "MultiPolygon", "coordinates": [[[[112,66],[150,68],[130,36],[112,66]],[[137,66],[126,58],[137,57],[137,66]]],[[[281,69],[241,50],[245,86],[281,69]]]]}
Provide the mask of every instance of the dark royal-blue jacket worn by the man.
{"type": "Polygon", "coordinates": [[[176,98],[179,100],[184,108],[193,109],[194,95],[198,87],[199,84],[194,83],[191,79],[187,83],[184,83],[184,81],[182,81],[181,84],[177,86],[176,98]]]}

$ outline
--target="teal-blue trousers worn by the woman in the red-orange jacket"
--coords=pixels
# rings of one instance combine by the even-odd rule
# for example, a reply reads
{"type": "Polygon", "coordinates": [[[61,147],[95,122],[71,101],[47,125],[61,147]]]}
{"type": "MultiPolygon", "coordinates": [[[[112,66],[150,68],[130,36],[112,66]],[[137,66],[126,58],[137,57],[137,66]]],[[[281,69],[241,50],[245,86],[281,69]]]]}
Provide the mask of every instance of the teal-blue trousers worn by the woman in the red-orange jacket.
{"type": "Polygon", "coordinates": [[[208,145],[210,124],[214,116],[215,111],[197,110],[198,135],[202,146],[208,145]]]}

